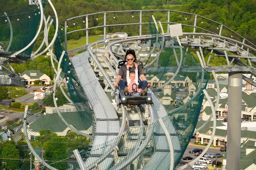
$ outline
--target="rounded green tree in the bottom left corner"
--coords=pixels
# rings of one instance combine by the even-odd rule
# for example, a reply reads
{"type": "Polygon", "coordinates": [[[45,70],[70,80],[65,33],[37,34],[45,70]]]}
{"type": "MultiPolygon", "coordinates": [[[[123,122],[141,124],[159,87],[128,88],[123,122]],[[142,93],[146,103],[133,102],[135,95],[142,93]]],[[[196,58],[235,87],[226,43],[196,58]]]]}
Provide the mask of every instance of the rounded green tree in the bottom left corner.
{"type": "Polygon", "coordinates": [[[10,160],[10,159],[20,159],[19,151],[16,149],[14,142],[6,141],[2,146],[2,150],[0,153],[2,158],[2,162],[6,162],[4,164],[5,169],[19,169],[19,161],[10,160]],[[8,159],[5,159],[8,158],[8,159]]]}

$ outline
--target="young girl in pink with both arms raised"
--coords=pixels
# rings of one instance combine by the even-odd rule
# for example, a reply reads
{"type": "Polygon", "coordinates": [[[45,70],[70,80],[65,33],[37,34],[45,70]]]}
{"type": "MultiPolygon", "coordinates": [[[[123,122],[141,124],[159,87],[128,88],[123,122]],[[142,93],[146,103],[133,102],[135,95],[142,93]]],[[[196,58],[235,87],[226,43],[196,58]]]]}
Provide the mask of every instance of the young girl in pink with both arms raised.
{"type": "MultiPolygon", "coordinates": [[[[127,65],[127,69],[129,69],[129,66],[127,65]]],[[[139,75],[138,75],[138,64],[135,64],[135,73],[134,72],[129,72],[129,70],[127,70],[126,72],[127,76],[126,76],[126,81],[127,81],[127,89],[128,92],[132,92],[132,85],[135,83],[137,86],[139,85],[138,80],[139,80],[139,75]],[[130,78],[128,77],[128,74],[130,76],[130,78]]],[[[136,86],[133,85],[133,89],[136,89],[136,86]]],[[[126,87],[124,88],[124,91],[126,90],[126,87]]],[[[137,89],[137,92],[141,92],[142,89],[137,89]]]]}

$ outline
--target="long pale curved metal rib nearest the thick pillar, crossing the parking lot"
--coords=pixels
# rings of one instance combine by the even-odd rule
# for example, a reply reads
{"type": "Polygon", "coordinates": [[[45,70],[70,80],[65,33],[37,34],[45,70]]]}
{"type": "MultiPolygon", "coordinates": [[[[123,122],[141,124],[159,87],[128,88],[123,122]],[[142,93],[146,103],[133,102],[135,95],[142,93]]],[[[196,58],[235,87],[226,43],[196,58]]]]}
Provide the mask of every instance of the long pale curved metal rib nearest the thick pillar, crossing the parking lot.
{"type": "Polygon", "coordinates": [[[210,146],[211,146],[211,144],[212,144],[212,141],[213,141],[213,138],[214,138],[214,135],[215,135],[215,130],[216,130],[216,115],[215,115],[214,106],[213,106],[212,100],[211,100],[209,94],[207,93],[207,91],[204,89],[203,92],[204,92],[205,97],[206,97],[207,100],[209,101],[210,106],[211,106],[211,109],[212,109],[212,115],[213,115],[212,136],[211,136],[211,139],[210,139],[209,143],[208,143],[207,146],[205,147],[204,151],[203,151],[196,159],[192,160],[191,162],[189,162],[188,164],[186,164],[186,165],[184,165],[184,166],[181,166],[180,168],[178,168],[178,170],[185,169],[186,167],[193,165],[196,161],[198,161],[200,158],[202,158],[202,157],[204,156],[204,154],[207,152],[207,150],[210,148],[210,146]]]}

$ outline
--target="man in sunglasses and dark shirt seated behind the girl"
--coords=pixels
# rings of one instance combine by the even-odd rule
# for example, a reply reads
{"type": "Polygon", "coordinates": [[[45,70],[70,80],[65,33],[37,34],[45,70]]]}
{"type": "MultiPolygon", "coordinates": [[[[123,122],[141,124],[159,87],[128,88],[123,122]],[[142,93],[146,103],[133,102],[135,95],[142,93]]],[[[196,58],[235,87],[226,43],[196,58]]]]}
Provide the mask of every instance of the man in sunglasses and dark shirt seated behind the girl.
{"type": "MultiPolygon", "coordinates": [[[[130,51],[133,51],[133,50],[130,50],[130,51]]],[[[130,72],[131,71],[135,72],[135,65],[133,64],[134,59],[135,58],[132,54],[127,54],[125,59],[127,61],[127,64],[124,64],[120,67],[118,71],[118,76],[116,77],[116,84],[114,85],[114,87],[117,88],[119,83],[120,90],[124,91],[125,95],[128,95],[128,90],[125,87],[127,86],[126,76],[129,76],[129,75],[126,75],[126,71],[129,70],[130,72]],[[129,69],[127,69],[127,65],[129,66],[129,69]]],[[[142,89],[141,94],[145,95],[148,92],[148,82],[140,66],[138,66],[138,75],[142,79],[142,81],[138,82],[139,83],[138,87],[142,89]]]]}

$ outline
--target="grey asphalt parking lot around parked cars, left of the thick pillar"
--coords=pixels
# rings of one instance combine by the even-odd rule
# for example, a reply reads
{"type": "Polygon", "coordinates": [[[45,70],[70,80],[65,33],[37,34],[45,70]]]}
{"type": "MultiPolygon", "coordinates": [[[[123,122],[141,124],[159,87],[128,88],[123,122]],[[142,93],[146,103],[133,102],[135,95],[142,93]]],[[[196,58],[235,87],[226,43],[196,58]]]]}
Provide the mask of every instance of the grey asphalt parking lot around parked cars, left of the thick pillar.
{"type": "MultiPolygon", "coordinates": [[[[192,140],[193,140],[193,139],[192,139],[192,140]]],[[[192,140],[191,140],[191,141],[192,141],[192,140]]],[[[190,157],[196,159],[197,156],[194,156],[193,153],[188,153],[188,151],[191,150],[191,149],[194,149],[194,148],[203,149],[203,151],[204,151],[204,148],[205,148],[205,147],[206,147],[206,146],[203,146],[203,145],[196,145],[196,144],[190,143],[190,144],[188,145],[188,147],[187,147],[187,149],[186,149],[186,151],[185,151],[183,157],[184,157],[184,156],[190,156],[190,157]]],[[[216,147],[216,148],[210,147],[206,153],[220,153],[221,155],[224,154],[224,152],[221,152],[221,151],[220,151],[220,147],[216,147]]],[[[210,159],[212,160],[212,162],[214,161],[214,158],[213,158],[213,159],[210,158],[210,159]]],[[[216,158],[215,160],[223,161],[223,158],[216,158]]],[[[184,161],[189,163],[189,162],[191,162],[192,160],[184,160],[184,161]]],[[[180,166],[183,166],[183,165],[178,165],[178,166],[176,166],[176,169],[179,168],[180,166]]],[[[213,169],[213,168],[212,168],[212,164],[208,164],[208,169],[209,169],[209,167],[210,167],[210,169],[213,169]]],[[[188,166],[188,167],[185,168],[185,169],[188,170],[188,169],[193,169],[193,168],[192,168],[191,166],[188,166]]]]}

